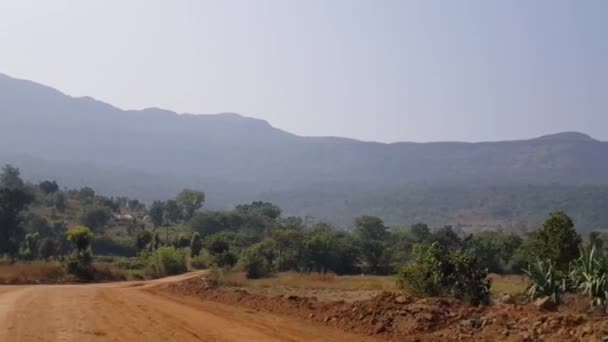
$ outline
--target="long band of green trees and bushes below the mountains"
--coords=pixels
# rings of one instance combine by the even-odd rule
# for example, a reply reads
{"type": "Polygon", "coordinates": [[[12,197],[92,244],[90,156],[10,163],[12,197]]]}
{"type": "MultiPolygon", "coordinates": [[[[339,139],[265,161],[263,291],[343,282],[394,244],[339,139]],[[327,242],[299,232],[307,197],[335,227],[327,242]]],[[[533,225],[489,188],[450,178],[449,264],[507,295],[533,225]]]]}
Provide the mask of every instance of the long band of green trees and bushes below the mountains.
{"type": "MultiPolygon", "coordinates": [[[[560,270],[549,272],[555,276],[581,257],[582,238],[564,212],[550,214],[540,229],[526,234],[466,234],[424,223],[389,227],[375,216],[336,229],[284,217],[268,202],[202,211],[204,202],[203,192],[185,189],[146,206],[90,188],[61,190],[54,181],[26,184],[19,170],[6,166],[0,173],[0,254],[12,260],[65,258],[72,273],[81,274],[91,269],[93,251],[124,257],[119,267],[155,277],[184,272],[188,265],[234,268],[249,278],[283,271],[396,274],[413,293],[474,303],[487,299],[488,273],[540,274],[550,267],[560,270]]],[[[596,255],[604,249],[603,238],[589,237],[596,255]]]]}

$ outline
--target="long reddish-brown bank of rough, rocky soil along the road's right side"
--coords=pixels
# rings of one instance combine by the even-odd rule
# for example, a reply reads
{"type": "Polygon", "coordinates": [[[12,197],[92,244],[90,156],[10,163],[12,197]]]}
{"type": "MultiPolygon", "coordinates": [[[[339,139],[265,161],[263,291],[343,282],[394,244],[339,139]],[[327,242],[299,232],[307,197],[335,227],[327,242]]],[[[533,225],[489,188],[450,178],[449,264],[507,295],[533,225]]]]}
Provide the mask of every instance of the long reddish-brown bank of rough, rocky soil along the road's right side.
{"type": "Polygon", "coordinates": [[[242,288],[215,288],[202,278],[167,286],[180,295],[240,305],[399,341],[604,341],[608,319],[545,312],[534,305],[472,307],[448,298],[382,293],[370,300],[321,302],[315,297],[268,297],[242,288]]]}

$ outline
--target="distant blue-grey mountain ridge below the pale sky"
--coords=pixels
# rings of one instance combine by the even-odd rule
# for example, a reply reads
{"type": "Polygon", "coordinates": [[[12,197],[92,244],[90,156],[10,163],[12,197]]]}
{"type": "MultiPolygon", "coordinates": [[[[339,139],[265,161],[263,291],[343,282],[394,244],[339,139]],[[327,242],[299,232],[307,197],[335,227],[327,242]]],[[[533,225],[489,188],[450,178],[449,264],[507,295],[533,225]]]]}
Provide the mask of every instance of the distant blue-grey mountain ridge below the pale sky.
{"type": "MultiPolygon", "coordinates": [[[[0,163],[26,159],[28,165],[39,165],[36,177],[43,177],[49,163],[54,165],[48,167],[54,170],[49,176],[61,175],[61,165],[68,164],[117,174],[80,175],[79,181],[65,177],[78,184],[84,177],[123,185],[146,174],[133,182],[137,189],[126,188],[146,199],[166,198],[180,186],[200,186],[225,199],[214,203],[210,196],[210,205],[217,207],[261,193],[339,184],[349,184],[341,190],[344,198],[348,189],[406,184],[608,184],[608,143],[578,132],[480,143],[302,137],[232,113],[121,110],[0,74],[0,163]]],[[[66,170],[74,174],[78,167],[66,170]]]]}

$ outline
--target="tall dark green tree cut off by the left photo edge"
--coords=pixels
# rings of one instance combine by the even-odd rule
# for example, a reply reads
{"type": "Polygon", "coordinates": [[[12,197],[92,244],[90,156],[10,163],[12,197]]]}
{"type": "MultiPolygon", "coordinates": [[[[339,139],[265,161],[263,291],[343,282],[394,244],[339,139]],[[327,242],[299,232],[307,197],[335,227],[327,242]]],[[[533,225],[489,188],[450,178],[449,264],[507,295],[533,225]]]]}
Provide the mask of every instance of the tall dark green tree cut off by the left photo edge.
{"type": "Polygon", "coordinates": [[[31,201],[22,188],[0,188],[0,254],[17,254],[24,237],[20,214],[31,201]]]}

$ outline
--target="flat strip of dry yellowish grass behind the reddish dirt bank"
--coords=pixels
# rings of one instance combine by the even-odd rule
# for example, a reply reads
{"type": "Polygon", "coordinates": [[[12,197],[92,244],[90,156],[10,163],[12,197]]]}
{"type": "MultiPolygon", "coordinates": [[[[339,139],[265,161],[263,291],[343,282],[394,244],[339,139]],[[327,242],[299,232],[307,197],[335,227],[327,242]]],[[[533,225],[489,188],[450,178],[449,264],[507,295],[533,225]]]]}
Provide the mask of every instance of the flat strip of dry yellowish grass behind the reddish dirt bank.
{"type": "Polygon", "coordinates": [[[246,279],[243,272],[224,274],[221,280],[223,285],[243,287],[289,287],[295,289],[332,289],[332,290],[370,290],[393,291],[396,290],[395,278],[392,276],[337,276],[335,274],[321,273],[279,273],[272,278],[246,279]]]}

